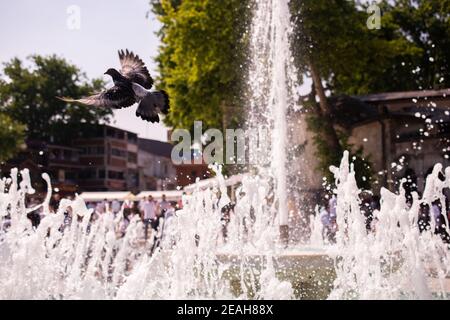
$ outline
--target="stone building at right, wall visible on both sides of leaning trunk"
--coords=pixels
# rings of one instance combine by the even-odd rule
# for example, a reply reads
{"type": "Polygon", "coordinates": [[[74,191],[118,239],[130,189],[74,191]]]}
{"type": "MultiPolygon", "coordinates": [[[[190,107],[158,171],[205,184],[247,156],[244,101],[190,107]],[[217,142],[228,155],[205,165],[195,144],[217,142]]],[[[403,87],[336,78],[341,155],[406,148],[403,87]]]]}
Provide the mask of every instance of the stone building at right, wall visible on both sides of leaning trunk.
{"type": "MultiPolygon", "coordinates": [[[[330,104],[334,125],[348,134],[354,150],[363,147],[372,163],[375,192],[397,190],[401,178],[421,192],[436,163],[450,165],[450,89],[331,97],[330,104]]],[[[323,190],[323,180],[314,170],[313,135],[305,114],[296,119],[291,126],[301,159],[295,165],[297,179],[300,192],[314,197],[323,190]]]]}

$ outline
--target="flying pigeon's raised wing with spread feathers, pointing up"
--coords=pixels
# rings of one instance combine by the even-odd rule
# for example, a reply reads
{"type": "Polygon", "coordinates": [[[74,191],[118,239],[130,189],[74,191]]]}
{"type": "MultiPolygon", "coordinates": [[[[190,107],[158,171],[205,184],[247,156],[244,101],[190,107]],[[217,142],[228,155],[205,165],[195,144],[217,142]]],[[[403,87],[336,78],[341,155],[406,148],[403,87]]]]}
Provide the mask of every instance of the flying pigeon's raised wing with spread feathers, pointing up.
{"type": "Polygon", "coordinates": [[[133,52],[129,52],[128,49],[124,52],[119,51],[120,64],[122,69],[120,72],[122,75],[132,82],[136,82],[143,86],[145,89],[150,90],[153,86],[153,79],[148,72],[144,62],[135,55],[133,52]]]}

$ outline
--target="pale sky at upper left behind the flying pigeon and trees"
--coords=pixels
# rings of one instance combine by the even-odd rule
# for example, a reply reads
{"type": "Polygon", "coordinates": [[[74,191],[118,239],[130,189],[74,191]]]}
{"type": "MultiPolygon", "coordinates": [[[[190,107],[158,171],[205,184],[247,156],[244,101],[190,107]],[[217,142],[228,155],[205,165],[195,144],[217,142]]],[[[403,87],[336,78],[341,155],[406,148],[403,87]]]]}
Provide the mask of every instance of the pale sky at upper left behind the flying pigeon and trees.
{"type": "MultiPolygon", "coordinates": [[[[159,22],[149,0],[0,1],[0,63],[31,54],[57,54],[87,76],[104,77],[119,68],[117,51],[130,49],[155,77],[159,22]]],[[[113,125],[140,137],[167,141],[167,129],[136,118],[136,106],[114,112],[113,125]]]]}

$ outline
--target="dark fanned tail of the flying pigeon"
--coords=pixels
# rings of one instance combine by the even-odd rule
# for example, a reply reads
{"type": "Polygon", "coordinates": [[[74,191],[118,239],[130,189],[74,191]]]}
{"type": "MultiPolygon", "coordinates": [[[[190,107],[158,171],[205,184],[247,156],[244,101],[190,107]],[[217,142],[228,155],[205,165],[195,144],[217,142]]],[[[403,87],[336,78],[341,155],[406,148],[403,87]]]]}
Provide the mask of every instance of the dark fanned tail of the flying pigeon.
{"type": "Polygon", "coordinates": [[[169,97],[165,91],[149,92],[139,103],[136,116],[152,123],[159,122],[158,113],[169,112],[169,97]]]}

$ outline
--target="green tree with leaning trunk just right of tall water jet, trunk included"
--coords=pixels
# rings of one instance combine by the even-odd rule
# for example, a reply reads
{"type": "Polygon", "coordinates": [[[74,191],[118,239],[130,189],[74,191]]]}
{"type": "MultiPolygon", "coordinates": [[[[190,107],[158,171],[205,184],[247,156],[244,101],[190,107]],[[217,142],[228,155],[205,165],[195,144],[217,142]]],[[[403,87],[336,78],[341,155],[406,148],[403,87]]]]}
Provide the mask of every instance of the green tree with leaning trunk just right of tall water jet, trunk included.
{"type": "MultiPolygon", "coordinates": [[[[305,103],[308,127],[315,133],[318,169],[330,177],[329,166],[338,165],[350,146],[348,133],[335,126],[329,96],[412,89],[411,70],[404,66],[414,64],[422,51],[388,17],[381,30],[369,30],[366,7],[357,1],[295,0],[291,7],[296,63],[313,80],[305,103]]],[[[354,156],[363,169],[358,182],[368,187],[370,163],[362,150],[354,156]]]]}

